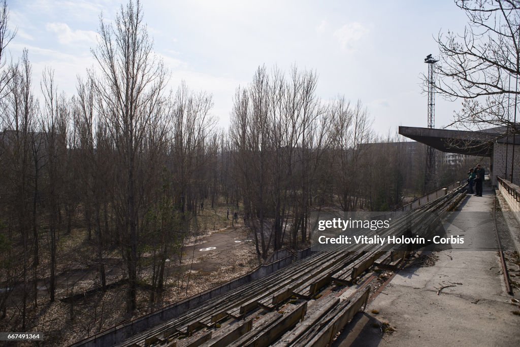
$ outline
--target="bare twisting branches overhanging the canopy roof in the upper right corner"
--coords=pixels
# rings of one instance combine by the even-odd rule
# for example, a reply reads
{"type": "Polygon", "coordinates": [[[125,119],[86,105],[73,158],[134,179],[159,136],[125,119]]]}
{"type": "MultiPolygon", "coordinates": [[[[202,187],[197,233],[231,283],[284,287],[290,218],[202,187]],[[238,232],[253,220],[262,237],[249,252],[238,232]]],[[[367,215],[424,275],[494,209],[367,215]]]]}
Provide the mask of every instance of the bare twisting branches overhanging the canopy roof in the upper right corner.
{"type": "Polygon", "coordinates": [[[504,126],[504,135],[519,134],[517,108],[510,112],[510,105],[516,105],[520,93],[520,2],[455,3],[465,12],[469,24],[463,34],[439,34],[440,78],[436,84],[444,96],[463,99],[463,109],[453,124],[504,126]]]}

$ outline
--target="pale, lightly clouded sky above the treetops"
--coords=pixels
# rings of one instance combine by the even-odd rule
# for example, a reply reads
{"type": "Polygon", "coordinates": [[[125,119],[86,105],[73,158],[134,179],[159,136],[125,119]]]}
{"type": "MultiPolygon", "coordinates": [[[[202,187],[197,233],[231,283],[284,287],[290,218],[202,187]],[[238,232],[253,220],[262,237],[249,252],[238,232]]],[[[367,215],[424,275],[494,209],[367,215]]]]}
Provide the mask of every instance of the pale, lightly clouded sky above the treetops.
{"type": "MultiPolygon", "coordinates": [[[[397,126],[426,126],[421,75],[424,58],[438,55],[439,33],[462,33],[467,19],[452,0],[231,1],[144,0],[154,51],[181,81],[213,95],[213,115],[226,128],[237,87],[265,64],[289,72],[315,70],[317,95],[345,96],[367,107],[380,135],[397,126]]],[[[111,21],[120,0],[8,0],[12,59],[29,51],[34,89],[42,71],[55,70],[58,89],[73,95],[76,76],[95,62],[100,15],[111,21]]],[[[436,97],[437,128],[451,123],[460,101],[436,97]]]]}

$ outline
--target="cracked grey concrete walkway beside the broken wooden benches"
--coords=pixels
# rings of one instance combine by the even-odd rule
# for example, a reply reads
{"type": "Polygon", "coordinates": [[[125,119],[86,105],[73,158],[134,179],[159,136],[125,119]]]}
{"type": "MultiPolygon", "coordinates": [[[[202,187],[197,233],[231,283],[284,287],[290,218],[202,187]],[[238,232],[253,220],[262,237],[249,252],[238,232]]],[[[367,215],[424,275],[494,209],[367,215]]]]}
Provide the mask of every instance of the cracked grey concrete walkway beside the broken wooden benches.
{"type": "MultiPolygon", "coordinates": [[[[474,245],[495,237],[495,196],[490,189],[485,193],[464,199],[461,211],[474,213],[460,213],[448,235],[464,232],[465,240],[474,245]]],[[[520,316],[512,313],[520,308],[511,304],[513,297],[505,291],[496,251],[449,249],[428,257],[438,259],[433,266],[412,264],[398,272],[334,345],[520,345],[520,316]],[[382,334],[381,322],[395,331],[382,334]]]]}

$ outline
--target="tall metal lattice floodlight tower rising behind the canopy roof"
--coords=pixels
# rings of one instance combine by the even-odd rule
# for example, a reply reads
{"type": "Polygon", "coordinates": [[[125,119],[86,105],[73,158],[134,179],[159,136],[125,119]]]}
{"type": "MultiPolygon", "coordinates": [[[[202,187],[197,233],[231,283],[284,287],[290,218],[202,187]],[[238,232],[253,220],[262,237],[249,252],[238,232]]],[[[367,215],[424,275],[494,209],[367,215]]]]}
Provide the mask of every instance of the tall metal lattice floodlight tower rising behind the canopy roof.
{"type": "MultiPolygon", "coordinates": [[[[431,54],[424,58],[424,62],[428,64],[428,128],[435,127],[435,63],[437,61],[431,54]]],[[[435,169],[435,150],[428,146],[426,150],[426,175],[424,175],[425,192],[436,188],[437,175],[435,169]]]]}

